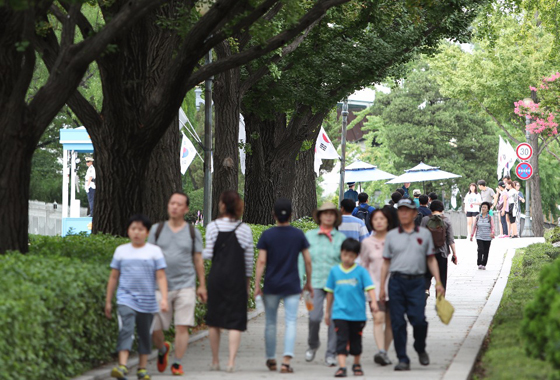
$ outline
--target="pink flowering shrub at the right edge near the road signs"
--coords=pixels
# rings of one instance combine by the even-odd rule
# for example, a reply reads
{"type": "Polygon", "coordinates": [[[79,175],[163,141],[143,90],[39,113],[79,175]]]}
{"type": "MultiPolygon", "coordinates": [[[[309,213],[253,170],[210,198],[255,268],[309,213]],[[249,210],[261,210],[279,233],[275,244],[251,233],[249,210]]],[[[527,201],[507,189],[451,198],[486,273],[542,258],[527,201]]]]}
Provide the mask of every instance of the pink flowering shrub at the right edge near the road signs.
{"type": "Polygon", "coordinates": [[[532,121],[527,125],[530,133],[542,133],[548,137],[558,134],[557,117],[560,111],[560,72],[544,77],[539,87],[530,86],[529,90],[538,94],[539,103],[520,100],[514,103],[514,112],[532,121]]]}

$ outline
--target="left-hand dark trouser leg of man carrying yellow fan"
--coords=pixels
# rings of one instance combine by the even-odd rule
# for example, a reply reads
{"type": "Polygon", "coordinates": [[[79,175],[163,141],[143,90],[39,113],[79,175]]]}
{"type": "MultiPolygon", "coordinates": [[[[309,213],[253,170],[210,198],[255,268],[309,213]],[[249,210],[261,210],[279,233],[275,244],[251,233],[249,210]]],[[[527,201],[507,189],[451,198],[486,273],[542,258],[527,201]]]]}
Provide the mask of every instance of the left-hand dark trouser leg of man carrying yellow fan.
{"type": "Polygon", "coordinates": [[[404,294],[404,284],[406,281],[400,277],[389,279],[389,299],[391,300],[391,328],[393,330],[395,351],[399,362],[410,363],[406,355],[406,298],[404,294]]]}

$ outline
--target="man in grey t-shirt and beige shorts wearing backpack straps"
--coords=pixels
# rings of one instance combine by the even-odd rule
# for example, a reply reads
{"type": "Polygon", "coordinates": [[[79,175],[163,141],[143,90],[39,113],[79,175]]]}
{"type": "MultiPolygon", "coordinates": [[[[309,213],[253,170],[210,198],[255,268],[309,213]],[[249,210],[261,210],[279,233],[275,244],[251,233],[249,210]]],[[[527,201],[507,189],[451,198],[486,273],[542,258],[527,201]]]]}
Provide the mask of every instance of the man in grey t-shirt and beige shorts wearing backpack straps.
{"type": "MultiPolygon", "coordinates": [[[[152,340],[159,350],[157,367],[159,372],[167,368],[171,345],[165,342],[163,330],[168,330],[171,319],[175,322],[175,358],[171,373],[183,375],[181,359],[189,343],[189,327],[195,326],[194,311],[197,296],[206,302],[206,279],[202,261],[202,236],[192,224],[185,222],[189,212],[189,197],[173,193],[167,204],[169,220],[152,227],[148,242],[158,245],[163,251],[167,268],[168,310],[155,315],[152,325],[152,340]],[[196,289],[198,276],[199,287],[196,289]]],[[[156,298],[160,297],[159,291],[156,298]]],[[[159,299],[159,298],[158,298],[159,299]]]]}

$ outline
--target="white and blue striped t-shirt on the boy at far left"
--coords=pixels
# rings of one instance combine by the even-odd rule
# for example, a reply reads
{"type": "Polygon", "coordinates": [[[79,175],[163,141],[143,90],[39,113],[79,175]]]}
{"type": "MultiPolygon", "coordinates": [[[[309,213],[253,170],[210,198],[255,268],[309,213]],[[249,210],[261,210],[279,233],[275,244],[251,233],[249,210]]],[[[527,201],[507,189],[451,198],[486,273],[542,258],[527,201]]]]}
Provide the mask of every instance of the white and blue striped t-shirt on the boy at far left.
{"type": "Polygon", "coordinates": [[[132,243],[118,246],[111,268],[120,272],[117,304],[140,313],[157,313],[156,271],[166,267],[161,249],[146,243],[136,248],[132,243]]]}

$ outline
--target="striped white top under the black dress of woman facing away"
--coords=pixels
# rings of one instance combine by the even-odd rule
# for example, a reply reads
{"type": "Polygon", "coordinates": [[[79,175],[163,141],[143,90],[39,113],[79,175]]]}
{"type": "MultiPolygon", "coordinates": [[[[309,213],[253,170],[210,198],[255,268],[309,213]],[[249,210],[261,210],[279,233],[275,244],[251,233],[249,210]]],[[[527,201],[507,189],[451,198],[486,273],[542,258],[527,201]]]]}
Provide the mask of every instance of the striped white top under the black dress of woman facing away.
{"type": "MultiPolygon", "coordinates": [[[[238,220],[229,218],[216,219],[206,228],[206,248],[202,251],[202,257],[211,260],[214,256],[214,243],[218,239],[220,232],[230,232],[241,223],[238,220]]],[[[241,223],[239,228],[235,230],[235,236],[239,241],[239,245],[245,250],[245,275],[253,276],[253,260],[254,260],[254,243],[251,228],[245,223],[241,223]]]]}

